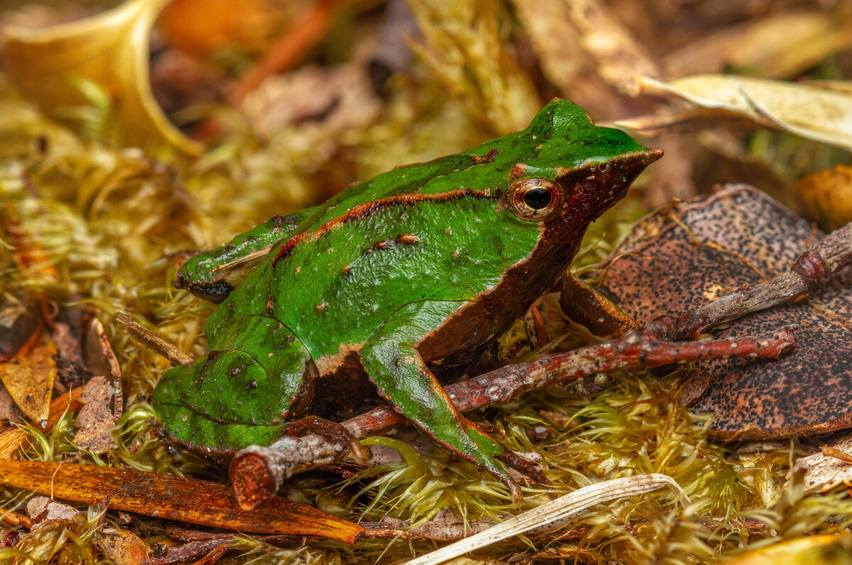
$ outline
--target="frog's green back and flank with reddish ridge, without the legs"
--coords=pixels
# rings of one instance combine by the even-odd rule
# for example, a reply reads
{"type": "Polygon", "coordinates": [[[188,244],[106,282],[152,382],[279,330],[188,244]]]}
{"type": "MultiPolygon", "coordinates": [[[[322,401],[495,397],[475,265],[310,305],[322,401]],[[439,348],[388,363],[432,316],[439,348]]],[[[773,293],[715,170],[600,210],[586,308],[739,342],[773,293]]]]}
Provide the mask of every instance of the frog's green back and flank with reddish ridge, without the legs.
{"type": "Polygon", "coordinates": [[[219,328],[233,327],[230,317],[256,313],[291,328],[319,359],[356,348],[403,305],[457,300],[462,307],[495,287],[529,257],[543,229],[500,203],[516,169],[553,178],[556,164],[579,167],[619,151],[589,135],[573,141],[572,127],[594,126],[576,106],[558,110],[577,116],[543,111],[524,131],[396,168],[317,207],[210,317],[211,345],[227,346],[219,328]],[[556,136],[553,155],[546,141],[556,136]]]}

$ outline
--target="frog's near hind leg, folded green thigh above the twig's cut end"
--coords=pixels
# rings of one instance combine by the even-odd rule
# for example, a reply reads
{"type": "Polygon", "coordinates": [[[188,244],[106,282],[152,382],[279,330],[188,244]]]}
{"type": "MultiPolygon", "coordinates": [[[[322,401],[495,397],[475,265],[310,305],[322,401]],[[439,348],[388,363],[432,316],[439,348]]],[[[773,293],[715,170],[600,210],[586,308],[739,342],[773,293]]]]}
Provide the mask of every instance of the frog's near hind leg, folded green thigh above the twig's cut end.
{"type": "Polygon", "coordinates": [[[248,316],[234,329],[233,348],[170,369],[153,397],[172,439],[221,457],[278,439],[305,413],[316,377],[307,348],[277,320],[248,316]]]}

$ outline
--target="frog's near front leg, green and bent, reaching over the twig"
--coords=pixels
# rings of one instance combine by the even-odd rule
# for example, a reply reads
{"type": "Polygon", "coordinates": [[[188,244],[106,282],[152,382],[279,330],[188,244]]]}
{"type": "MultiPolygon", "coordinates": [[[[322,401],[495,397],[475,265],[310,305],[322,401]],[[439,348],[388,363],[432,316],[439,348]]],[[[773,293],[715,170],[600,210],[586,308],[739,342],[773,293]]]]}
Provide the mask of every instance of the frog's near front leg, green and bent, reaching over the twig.
{"type": "Polygon", "coordinates": [[[417,345],[463,302],[423,300],[394,312],[361,347],[360,359],[379,395],[435,442],[485,467],[521,497],[520,488],[497,459],[543,481],[535,466],[488,436],[452,405],[423,361],[417,345]]]}

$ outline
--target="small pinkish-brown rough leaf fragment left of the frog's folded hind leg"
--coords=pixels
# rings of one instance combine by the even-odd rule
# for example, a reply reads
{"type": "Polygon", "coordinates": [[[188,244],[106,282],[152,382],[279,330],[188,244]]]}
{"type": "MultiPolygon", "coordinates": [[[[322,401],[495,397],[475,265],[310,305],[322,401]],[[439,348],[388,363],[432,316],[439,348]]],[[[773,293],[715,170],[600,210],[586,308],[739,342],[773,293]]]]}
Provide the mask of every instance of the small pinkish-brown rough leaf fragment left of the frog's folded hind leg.
{"type": "Polygon", "coordinates": [[[117,447],[112,437],[116,418],[110,408],[112,397],[115,396],[114,391],[112,385],[107,382],[107,377],[94,377],[89,380],[86,390],[80,395],[83,406],[80,407],[75,420],[77,434],[74,435],[72,443],[78,448],[93,454],[102,454],[117,447]]]}

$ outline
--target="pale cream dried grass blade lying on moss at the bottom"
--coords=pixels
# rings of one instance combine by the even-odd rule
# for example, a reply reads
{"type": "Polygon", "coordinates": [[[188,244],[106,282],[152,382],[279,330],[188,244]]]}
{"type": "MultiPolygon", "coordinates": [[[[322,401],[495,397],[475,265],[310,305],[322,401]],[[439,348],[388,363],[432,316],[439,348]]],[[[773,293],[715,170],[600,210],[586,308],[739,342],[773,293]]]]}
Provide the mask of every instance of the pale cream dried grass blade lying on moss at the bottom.
{"type": "Polygon", "coordinates": [[[493,528],[486,529],[484,532],[407,561],[405,565],[437,565],[437,563],[447,562],[469,551],[481,549],[515,535],[525,534],[533,529],[547,528],[552,530],[559,528],[562,524],[554,524],[554,522],[563,521],[590,506],[608,500],[649,493],[666,485],[671,486],[678,493],[680,492],[680,486],[674,479],[658,473],[635,475],[591,484],[533,508],[533,510],[514,516],[493,528]],[[551,526],[551,528],[548,528],[548,526],[551,526]]]}

